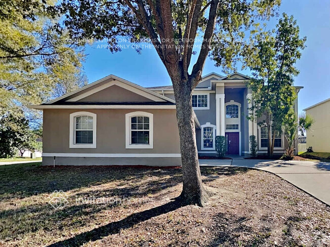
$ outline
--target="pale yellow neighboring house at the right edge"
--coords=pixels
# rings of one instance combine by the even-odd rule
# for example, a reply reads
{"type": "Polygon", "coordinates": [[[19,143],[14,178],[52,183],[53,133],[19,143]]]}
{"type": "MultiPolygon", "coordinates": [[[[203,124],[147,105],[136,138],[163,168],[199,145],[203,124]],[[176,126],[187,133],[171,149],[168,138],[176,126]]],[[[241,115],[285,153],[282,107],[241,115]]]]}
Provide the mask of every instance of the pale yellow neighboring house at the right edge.
{"type": "Polygon", "coordinates": [[[314,152],[330,152],[330,98],[306,109],[306,114],[314,119],[307,133],[307,147],[314,152]]]}

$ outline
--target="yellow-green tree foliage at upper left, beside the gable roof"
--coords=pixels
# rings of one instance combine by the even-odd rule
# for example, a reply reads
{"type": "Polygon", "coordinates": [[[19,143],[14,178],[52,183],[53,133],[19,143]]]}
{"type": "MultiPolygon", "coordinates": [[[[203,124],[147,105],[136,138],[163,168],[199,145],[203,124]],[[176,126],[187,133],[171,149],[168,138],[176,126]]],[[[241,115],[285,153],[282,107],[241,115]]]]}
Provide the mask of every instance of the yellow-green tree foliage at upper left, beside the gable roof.
{"type": "Polygon", "coordinates": [[[24,109],[29,116],[36,111],[26,105],[40,104],[86,83],[83,44],[72,42],[59,25],[60,16],[46,11],[52,5],[13,0],[0,6],[0,115],[20,114],[18,109],[24,109]]]}

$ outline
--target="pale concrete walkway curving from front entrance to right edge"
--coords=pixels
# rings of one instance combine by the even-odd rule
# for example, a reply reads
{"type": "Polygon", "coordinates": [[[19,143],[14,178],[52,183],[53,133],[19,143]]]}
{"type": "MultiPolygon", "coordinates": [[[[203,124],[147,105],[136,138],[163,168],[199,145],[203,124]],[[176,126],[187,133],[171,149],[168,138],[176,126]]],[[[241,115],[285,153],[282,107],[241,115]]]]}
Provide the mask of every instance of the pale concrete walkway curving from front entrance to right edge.
{"type": "Polygon", "coordinates": [[[201,166],[254,168],[278,175],[330,206],[330,163],[321,161],[244,159],[200,159],[201,166]]]}

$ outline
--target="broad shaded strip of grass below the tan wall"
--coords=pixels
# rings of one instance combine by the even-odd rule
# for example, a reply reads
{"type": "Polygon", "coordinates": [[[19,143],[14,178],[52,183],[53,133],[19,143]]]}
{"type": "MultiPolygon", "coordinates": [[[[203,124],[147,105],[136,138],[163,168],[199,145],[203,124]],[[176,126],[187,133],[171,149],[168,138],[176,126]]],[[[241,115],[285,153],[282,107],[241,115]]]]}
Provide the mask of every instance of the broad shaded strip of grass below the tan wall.
{"type": "Polygon", "coordinates": [[[178,169],[131,168],[107,166],[40,167],[12,165],[0,166],[0,198],[20,198],[54,190],[68,191],[81,187],[100,185],[114,181],[137,181],[145,176],[160,178],[174,176],[178,169]],[[16,194],[16,195],[13,195],[16,194]]]}

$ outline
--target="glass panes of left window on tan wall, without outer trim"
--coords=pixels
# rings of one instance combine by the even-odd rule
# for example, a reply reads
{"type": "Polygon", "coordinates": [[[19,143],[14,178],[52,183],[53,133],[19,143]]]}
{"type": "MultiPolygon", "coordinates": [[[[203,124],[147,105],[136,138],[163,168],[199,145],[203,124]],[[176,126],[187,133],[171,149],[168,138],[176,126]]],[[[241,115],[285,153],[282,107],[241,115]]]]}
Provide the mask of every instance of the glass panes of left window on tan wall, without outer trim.
{"type": "Polygon", "coordinates": [[[76,143],[93,143],[93,117],[76,116],[76,143]]]}

